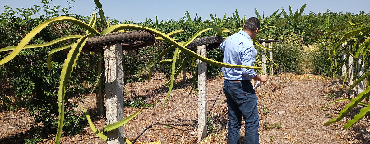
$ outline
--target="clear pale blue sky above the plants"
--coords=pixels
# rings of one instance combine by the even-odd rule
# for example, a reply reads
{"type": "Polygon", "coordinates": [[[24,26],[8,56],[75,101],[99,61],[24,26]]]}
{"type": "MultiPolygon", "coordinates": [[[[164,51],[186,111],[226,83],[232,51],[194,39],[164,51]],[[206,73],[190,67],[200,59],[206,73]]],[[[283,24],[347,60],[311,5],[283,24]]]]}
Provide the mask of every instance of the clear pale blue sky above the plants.
{"type": "MultiPolygon", "coordinates": [[[[66,0],[53,0],[53,2],[61,7],[67,6],[66,0]]],[[[105,16],[116,18],[118,21],[133,20],[134,22],[142,22],[146,18],[153,20],[156,15],[158,15],[159,21],[167,18],[177,21],[184,16],[186,11],[189,11],[192,18],[195,13],[202,16],[202,21],[210,19],[210,13],[217,14],[218,17],[223,17],[225,13],[231,16],[235,9],[238,9],[240,17],[243,17],[244,14],[246,14],[246,18],[255,17],[255,8],[261,15],[262,11],[265,11],[265,16],[268,16],[281,8],[289,11],[289,5],[295,11],[305,3],[307,3],[304,12],[306,14],[310,11],[315,14],[324,13],[327,9],[332,12],[343,11],[355,14],[359,11],[365,13],[370,11],[369,0],[357,0],[355,3],[348,0],[100,0],[100,2],[105,16]]],[[[9,5],[13,10],[33,5],[43,6],[41,0],[1,0],[1,13],[4,11],[5,5],[9,5]]],[[[72,5],[75,7],[71,8],[70,13],[83,16],[93,13],[92,9],[96,7],[93,0],[75,0],[72,5]]]]}

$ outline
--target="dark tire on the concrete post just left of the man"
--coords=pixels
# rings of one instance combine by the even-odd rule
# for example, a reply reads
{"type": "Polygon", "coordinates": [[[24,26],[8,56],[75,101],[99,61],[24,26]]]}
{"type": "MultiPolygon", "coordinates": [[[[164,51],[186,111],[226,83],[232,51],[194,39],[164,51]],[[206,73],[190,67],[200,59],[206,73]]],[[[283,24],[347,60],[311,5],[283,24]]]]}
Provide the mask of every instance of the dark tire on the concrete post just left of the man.
{"type": "Polygon", "coordinates": [[[194,49],[197,46],[207,45],[207,50],[216,49],[225,41],[222,36],[208,36],[205,38],[194,39],[189,45],[185,46],[188,49],[194,49]]]}

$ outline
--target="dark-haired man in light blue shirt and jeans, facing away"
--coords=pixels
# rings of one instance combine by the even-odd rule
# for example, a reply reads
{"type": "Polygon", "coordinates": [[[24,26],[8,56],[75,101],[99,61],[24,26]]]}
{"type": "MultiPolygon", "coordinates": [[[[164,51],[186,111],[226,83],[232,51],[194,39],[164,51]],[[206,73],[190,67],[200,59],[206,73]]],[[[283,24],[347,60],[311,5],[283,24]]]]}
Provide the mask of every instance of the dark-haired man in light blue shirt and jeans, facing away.
{"type": "MultiPolygon", "coordinates": [[[[254,66],[256,49],[253,38],[257,35],[260,22],[249,18],[243,30],[229,36],[221,43],[220,49],[225,52],[223,63],[254,66]]],[[[232,69],[222,67],[223,93],[226,96],[229,111],[228,136],[230,144],[240,144],[239,130],[242,117],[245,121],[245,144],[259,144],[259,116],[257,97],[250,80],[266,82],[265,75],[258,75],[253,69],[232,69]]]]}

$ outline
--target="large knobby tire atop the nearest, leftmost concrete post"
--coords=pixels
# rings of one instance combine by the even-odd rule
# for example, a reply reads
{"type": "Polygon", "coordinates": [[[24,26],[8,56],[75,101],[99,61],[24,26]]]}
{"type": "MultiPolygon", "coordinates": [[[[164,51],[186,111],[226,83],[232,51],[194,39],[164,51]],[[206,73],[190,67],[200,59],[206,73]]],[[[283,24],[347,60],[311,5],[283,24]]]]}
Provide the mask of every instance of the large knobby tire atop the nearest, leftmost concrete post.
{"type": "Polygon", "coordinates": [[[88,38],[83,50],[90,52],[116,43],[122,44],[122,50],[138,49],[152,45],[154,42],[155,36],[147,31],[114,32],[88,38]]]}

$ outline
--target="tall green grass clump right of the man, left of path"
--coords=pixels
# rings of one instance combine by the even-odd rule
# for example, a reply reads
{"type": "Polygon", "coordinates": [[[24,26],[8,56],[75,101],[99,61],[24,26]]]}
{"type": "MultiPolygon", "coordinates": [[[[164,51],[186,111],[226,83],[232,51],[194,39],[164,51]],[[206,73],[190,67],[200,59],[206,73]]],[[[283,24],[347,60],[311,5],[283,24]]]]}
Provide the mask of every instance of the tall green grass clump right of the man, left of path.
{"type": "Polygon", "coordinates": [[[274,68],[275,74],[302,73],[302,52],[292,43],[273,43],[273,61],[278,65],[274,68]]]}

